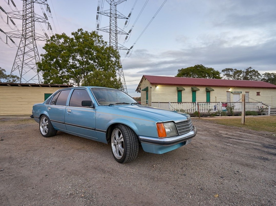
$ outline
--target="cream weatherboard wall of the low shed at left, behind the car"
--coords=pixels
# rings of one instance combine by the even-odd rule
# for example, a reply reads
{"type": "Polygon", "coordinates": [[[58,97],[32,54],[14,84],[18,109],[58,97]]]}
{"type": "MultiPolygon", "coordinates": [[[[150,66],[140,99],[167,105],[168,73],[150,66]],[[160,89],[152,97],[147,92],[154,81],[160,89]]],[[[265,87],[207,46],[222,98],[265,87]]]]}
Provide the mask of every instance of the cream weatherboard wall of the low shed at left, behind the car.
{"type": "Polygon", "coordinates": [[[44,94],[60,87],[0,86],[0,115],[32,114],[33,104],[44,102],[44,94]]]}

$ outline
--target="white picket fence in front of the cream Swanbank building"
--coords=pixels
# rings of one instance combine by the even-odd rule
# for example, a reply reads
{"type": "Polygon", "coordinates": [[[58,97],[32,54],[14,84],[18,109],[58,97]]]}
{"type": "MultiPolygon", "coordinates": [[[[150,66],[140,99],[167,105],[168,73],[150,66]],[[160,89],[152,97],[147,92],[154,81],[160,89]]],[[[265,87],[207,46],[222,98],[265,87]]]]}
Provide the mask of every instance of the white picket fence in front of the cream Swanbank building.
{"type": "MultiPolygon", "coordinates": [[[[227,105],[235,105],[234,112],[241,112],[241,102],[152,102],[152,107],[158,107],[169,110],[185,110],[186,113],[198,111],[200,113],[209,113],[226,111],[227,105]]],[[[262,102],[245,102],[246,111],[259,111],[262,102]]]]}

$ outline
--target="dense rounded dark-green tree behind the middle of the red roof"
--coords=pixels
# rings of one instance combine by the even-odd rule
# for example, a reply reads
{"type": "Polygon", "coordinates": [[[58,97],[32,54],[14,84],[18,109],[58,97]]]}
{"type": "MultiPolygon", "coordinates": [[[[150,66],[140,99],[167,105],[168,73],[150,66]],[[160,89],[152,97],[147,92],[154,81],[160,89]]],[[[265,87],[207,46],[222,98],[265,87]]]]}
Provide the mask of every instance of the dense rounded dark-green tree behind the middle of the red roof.
{"type": "Polygon", "coordinates": [[[192,78],[208,78],[208,79],[221,79],[220,72],[197,64],[187,68],[178,69],[176,77],[192,77],[192,78]]]}

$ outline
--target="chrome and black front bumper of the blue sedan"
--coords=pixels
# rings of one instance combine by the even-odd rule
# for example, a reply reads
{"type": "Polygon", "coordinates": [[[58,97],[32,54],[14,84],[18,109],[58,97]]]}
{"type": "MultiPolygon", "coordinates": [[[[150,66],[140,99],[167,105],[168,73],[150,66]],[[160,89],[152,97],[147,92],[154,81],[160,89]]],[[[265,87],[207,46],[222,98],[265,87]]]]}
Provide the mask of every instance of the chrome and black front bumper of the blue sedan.
{"type": "Polygon", "coordinates": [[[154,137],[144,137],[139,136],[141,143],[147,143],[147,144],[155,144],[160,146],[171,146],[174,144],[178,144],[184,141],[187,141],[197,134],[197,128],[194,126],[193,130],[190,131],[187,134],[180,135],[177,137],[166,137],[166,138],[154,138],[154,137]]]}

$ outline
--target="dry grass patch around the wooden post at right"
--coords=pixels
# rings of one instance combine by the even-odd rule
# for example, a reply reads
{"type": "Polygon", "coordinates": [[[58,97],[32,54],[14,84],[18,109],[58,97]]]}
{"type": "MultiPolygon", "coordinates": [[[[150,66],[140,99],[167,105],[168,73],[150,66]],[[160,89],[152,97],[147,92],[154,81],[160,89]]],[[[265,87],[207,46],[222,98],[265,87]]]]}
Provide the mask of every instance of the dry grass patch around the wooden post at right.
{"type": "MultiPolygon", "coordinates": [[[[210,121],[211,119],[204,118],[204,120],[210,121]]],[[[245,117],[245,125],[241,124],[241,118],[212,119],[211,121],[227,126],[244,127],[256,131],[276,133],[276,116],[245,117]]]]}

